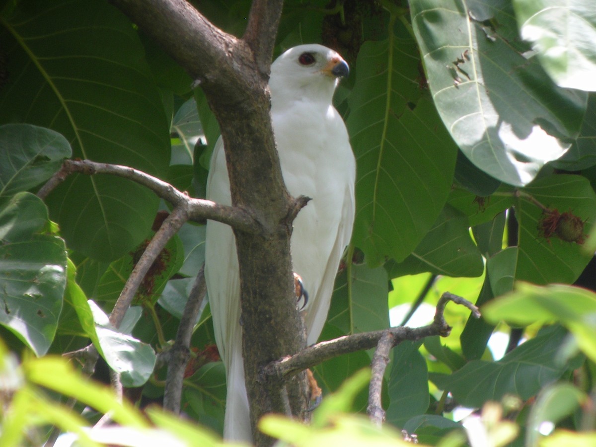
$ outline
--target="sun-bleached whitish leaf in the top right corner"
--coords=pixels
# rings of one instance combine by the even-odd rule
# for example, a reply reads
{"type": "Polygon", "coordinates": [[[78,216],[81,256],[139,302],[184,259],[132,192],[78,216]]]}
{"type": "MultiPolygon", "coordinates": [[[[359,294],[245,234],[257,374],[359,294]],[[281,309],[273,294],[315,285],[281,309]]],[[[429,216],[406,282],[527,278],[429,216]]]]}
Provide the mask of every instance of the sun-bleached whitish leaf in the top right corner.
{"type": "Polygon", "coordinates": [[[596,16],[591,0],[513,0],[522,39],[561,87],[596,90],[596,16]]]}

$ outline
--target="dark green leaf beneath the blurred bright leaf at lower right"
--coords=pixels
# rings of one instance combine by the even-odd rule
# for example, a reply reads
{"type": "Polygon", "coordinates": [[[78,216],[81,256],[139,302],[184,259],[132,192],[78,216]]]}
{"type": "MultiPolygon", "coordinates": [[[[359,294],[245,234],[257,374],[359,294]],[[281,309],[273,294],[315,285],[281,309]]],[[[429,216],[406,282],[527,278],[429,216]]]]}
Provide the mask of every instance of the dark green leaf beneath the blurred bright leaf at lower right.
{"type": "Polygon", "coordinates": [[[566,336],[563,328],[551,327],[498,362],[473,360],[451,375],[431,373],[430,380],[470,408],[499,401],[506,394],[518,395],[525,401],[567,370],[566,364],[556,361],[566,336]]]}

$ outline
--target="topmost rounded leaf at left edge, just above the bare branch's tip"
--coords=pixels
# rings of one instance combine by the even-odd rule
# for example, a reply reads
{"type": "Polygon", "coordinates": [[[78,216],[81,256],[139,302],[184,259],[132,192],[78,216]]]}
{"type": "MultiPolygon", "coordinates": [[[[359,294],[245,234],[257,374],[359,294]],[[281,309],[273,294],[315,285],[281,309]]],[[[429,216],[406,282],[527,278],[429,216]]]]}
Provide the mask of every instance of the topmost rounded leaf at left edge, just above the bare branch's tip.
{"type": "Polygon", "coordinates": [[[28,124],[0,126],[0,196],[41,184],[70,154],[69,142],[58,132],[28,124]]]}

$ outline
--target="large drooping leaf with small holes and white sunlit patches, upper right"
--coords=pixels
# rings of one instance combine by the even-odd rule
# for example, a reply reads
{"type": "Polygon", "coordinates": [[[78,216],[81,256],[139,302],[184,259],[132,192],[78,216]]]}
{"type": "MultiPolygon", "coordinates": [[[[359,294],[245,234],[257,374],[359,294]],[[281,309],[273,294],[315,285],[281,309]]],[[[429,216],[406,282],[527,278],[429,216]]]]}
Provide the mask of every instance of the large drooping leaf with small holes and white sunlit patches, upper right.
{"type": "Polygon", "coordinates": [[[477,167],[532,181],[578,136],[584,92],[561,89],[526,58],[505,0],[413,0],[412,26],[439,114],[477,167]]]}

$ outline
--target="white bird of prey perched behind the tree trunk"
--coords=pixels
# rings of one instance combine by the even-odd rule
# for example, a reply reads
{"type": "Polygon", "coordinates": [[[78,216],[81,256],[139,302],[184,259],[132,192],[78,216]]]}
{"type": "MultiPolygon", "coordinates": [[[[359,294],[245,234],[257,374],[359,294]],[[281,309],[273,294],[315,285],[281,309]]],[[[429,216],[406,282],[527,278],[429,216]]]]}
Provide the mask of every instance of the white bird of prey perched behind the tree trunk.
{"type": "MultiPolygon", "coordinates": [[[[271,120],[281,171],[293,197],[312,200],[298,213],[291,236],[293,269],[309,294],[303,311],[308,343],[327,319],[340,258],[352,235],[355,160],[342,117],[333,107],[346,62],[322,45],[288,49],[271,65],[271,120]]],[[[207,198],[231,204],[221,137],[215,145],[207,198]]],[[[240,280],[234,234],[228,225],[207,222],[205,278],[215,340],[226,367],[224,437],[252,439],[244,383],[240,280]]]]}

